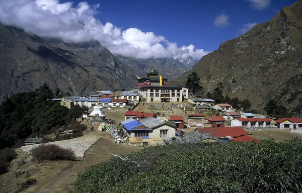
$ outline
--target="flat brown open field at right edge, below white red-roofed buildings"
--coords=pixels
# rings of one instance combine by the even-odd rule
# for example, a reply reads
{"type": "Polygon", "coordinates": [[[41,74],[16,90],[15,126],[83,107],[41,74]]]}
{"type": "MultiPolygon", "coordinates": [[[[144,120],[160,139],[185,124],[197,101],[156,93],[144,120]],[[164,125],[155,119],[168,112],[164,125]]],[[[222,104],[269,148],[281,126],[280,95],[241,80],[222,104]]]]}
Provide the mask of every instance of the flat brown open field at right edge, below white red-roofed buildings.
{"type": "Polygon", "coordinates": [[[263,131],[248,131],[248,133],[252,134],[253,137],[257,139],[269,139],[274,138],[276,142],[281,142],[287,139],[291,139],[293,137],[302,137],[302,134],[291,133],[290,131],[285,130],[263,130],[263,131]]]}

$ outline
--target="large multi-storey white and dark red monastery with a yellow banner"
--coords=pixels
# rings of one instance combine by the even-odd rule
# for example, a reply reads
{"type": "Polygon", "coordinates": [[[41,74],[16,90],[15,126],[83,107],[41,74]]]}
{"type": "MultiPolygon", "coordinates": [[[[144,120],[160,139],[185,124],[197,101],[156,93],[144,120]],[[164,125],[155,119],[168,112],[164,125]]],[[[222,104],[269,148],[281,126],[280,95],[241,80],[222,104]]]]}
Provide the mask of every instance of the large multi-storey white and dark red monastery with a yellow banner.
{"type": "Polygon", "coordinates": [[[168,78],[163,78],[158,71],[147,73],[147,77],[137,80],[138,93],[146,102],[176,103],[188,98],[188,89],[183,86],[168,86],[168,78]]]}

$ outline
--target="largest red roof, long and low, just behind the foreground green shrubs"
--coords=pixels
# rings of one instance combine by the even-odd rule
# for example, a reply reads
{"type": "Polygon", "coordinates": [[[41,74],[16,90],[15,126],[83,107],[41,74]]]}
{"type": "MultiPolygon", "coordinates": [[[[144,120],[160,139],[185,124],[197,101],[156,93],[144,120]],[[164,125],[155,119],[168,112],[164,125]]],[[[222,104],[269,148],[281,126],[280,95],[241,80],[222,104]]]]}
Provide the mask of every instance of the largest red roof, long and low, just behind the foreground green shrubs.
{"type": "Polygon", "coordinates": [[[229,139],[229,138],[236,138],[245,135],[250,135],[243,127],[199,127],[196,128],[195,131],[199,133],[209,133],[212,137],[222,138],[222,139],[229,139]]]}

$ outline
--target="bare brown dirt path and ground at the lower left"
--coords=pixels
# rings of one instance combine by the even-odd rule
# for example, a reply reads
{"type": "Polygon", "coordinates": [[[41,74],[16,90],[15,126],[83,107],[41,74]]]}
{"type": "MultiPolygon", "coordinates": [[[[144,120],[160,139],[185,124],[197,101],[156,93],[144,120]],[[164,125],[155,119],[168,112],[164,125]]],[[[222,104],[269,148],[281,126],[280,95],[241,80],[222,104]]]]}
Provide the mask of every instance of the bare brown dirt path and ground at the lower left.
{"type": "MultiPolygon", "coordinates": [[[[93,131],[95,135],[101,135],[78,161],[32,161],[17,166],[10,172],[0,175],[0,192],[19,192],[20,184],[27,178],[35,178],[36,184],[26,188],[22,192],[69,192],[78,173],[86,168],[112,158],[112,154],[123,155],[139,151],[142,147],[128,146],[126,143],[113,143],[112,138],[106,132],[93,131]],[[22,174],[16,177],[16,173],[22,169],[29,170],[28,175],[22,174]]],[[[27,152],[18,150],[20,160],[31,157],[27,152]]]]}

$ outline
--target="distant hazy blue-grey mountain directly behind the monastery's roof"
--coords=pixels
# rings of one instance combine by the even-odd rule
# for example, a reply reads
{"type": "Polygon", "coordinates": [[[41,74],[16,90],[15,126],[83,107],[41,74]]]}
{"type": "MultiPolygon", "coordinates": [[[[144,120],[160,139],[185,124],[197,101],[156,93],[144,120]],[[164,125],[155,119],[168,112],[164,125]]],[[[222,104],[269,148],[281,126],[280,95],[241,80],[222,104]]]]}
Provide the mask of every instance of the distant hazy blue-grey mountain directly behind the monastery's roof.
{"type": "Polygon", "coordinates": [[[125,56],[116,56],[125,64],[127,64],[133,72],[140,77],[144,77],[146,73],[152,69],[158,70],[162,76],[174,79],[189,69],[197,62],[192,58],[173,59],[173,58],[147,58],[136,59],[125,56]]]}

